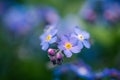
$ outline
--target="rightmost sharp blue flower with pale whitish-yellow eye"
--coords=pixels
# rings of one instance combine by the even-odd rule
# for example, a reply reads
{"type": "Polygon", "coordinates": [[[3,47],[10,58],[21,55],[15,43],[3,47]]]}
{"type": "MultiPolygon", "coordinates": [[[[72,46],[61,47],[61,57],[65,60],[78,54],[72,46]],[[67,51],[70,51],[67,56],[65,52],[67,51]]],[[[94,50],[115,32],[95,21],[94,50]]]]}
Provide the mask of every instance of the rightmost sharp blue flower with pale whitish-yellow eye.
{"type": "Polygon", "coordinates": [[[90,48],[89,33],[82,31],[76,27],[75,32],[72,34],[72,37],[74,37],[78,40],[79,46],[83,47],[83,45],[84,45],[86,48],[90,48]]]}

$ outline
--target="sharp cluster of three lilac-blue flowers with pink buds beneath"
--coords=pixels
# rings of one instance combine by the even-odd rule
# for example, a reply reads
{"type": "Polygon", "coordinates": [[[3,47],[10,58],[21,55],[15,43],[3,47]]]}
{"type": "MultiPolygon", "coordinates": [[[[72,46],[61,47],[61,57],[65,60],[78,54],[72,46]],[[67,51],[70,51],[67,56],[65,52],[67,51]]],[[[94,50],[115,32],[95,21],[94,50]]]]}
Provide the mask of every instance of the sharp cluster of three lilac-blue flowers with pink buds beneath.
{"type": "Polygon", "coordinates": [[[70,58],[73,53],[80,53],[83,47],[90,48],[88,32],[79,27],[74,27],[72,32],[59,34],[56,27],[49,26],[40,36],[42,50],[48,50],[48,55],[53,64],[61,64],[63,53],[70,58]],[[51,47],[55,45],[55,49],[51,47]]]}

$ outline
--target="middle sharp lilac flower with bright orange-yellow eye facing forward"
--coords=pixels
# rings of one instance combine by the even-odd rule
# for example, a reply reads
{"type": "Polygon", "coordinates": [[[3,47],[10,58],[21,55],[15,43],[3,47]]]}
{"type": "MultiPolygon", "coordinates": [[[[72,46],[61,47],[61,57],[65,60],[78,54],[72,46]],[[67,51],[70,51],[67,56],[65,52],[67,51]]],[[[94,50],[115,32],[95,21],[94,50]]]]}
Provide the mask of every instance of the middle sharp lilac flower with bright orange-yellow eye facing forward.
{"type": "Polygon", "coordinates": [[[62,36],[61,41],[58,44],[58,48],[64,51],[67,57],[71,57],[72,53],[79,53],[81,46],[77,45],[77,40],[72,37],[62,36]]]}

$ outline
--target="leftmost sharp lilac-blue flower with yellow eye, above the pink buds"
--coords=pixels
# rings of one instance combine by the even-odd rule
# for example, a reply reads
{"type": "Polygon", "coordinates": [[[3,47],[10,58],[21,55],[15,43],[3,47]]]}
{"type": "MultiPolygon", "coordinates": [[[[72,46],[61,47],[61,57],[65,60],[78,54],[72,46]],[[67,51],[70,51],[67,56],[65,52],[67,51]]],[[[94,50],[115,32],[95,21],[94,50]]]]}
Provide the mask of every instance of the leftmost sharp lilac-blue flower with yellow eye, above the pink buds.
{"type": "Polygon", "coordinates": [[[40,36],[41,46],[43,50],[47,50],[49,45],[55,43],[57,41],[57,37],[55,36],[57,33],[56,29],[53,29],[49,32],[44,33],[40,36]]]}

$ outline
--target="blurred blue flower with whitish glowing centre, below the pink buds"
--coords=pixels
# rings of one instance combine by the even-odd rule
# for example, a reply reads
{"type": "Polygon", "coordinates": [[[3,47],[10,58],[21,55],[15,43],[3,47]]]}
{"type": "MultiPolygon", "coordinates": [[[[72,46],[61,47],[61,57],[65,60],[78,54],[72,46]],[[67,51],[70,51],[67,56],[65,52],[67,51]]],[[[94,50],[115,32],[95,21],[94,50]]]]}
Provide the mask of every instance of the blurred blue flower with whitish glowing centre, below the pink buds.
{"type": "MultiPolygon", "coordinates": [[[[79,60],[77,62],[75,61],[69,64],[64,64],[60,67],[55,68],[54,70],[55,77],[57,76],[59,77],[59,79],[61,75],[68,75],[69,73],[72,73],[73,75],[75,75],[75,77],[78,77],[78,79],[83,78],[85,80],[94,80],[93,72],[90,66],[79,60]]],[[[71,75],[68,77],[73,78],[74,76],[71,75]]]]}

